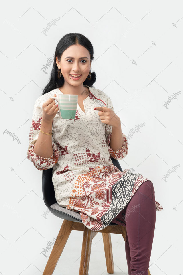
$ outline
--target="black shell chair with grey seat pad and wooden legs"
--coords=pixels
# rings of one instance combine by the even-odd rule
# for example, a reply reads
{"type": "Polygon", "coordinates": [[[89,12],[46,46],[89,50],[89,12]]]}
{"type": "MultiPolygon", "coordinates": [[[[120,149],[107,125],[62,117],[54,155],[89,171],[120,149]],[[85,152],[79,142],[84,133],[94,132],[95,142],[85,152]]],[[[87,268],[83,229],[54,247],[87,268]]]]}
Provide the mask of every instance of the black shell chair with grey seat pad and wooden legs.
{"type": "MultiPolygon", "coordinates": [[[[123,172],[120,163],[118,160],[111,158],[114,166],[120,169],[123,172]]],[[[69,238],[69,235],[72,230],[83,231],[83,243],[81,251],[81,261],[79,275],[88,275],[89,270],[89,259],[92,248],[92,239],[94,236],[101,232],[104,242],[104,251],[106,257],[107,272],[110,274],[114,273],[114,263],[112,255],[112,245],[111,245],[111,236],[110,233],[121,234],[124,238],[126,237],[126,227],[122,225],[117,225],[115,223],[110,223],[105,229],[100,231],[91,231],[88,229],[81,220],[79,212],[75,212],[66,208],[61,207],[55,198],[55,191],[52,182],[52,170],[53,168],[43,170],[42,176],[42,190],[43,190],[43,199],[45,205],[48,207],[49,211],[55,216],[63,219],[59,234],[55,241],[55,244],[52,248],[51,254],[45,266],[43,272],[44,275],[52,275],[57,262],[63,252],[65,244],[69,238]]],[[[148,270],[148,275],[150,272],[148,270]]]]}

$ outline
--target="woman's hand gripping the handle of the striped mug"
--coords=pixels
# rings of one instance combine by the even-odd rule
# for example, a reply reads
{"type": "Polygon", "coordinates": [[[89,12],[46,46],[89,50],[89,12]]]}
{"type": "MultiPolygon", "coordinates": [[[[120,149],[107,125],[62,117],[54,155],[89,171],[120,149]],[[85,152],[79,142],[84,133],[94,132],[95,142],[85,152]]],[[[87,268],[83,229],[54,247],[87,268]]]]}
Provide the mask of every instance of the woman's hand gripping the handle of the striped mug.
{"type": "MultiPolygon", "coordinates": [[[[53,97],[57,97],[57,95],[54,94],[53,97]]],[[[53,98],[47,99],[47,101],[43,103],[42,108],[43,108],[43,120],[46,120],[46,121],[52,121],[59,110],[53,98]]]]}

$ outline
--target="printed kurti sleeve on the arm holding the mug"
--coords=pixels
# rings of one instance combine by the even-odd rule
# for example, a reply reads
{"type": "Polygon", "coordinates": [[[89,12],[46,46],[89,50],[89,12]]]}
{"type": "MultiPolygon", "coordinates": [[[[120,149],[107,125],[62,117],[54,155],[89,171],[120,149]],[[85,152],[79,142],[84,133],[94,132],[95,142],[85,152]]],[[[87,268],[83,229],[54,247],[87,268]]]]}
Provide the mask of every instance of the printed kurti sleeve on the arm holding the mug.
{"type": "Polygon", "coordinates": [[[42,114],[43,114],[43,109],[38,98],[35,102],[34,110],[33,110],[32,122],[31,122],[30,133],[29,133],[29,147],[27,150],[27,158],[28,160],[31,160],[33,162],[34,166],[38,170],[47,170],[49,168],[52,168],[58,162],[59,149],[55,144],[55,141],[52,135],[51,136],[52,148],[53,148],[52,156],[48,158],[44,158],[44,157],[38,156],[34,152],[34,145],[35,145],[35,142],[37,141],[37,138],[40,132],[42,114]]]}

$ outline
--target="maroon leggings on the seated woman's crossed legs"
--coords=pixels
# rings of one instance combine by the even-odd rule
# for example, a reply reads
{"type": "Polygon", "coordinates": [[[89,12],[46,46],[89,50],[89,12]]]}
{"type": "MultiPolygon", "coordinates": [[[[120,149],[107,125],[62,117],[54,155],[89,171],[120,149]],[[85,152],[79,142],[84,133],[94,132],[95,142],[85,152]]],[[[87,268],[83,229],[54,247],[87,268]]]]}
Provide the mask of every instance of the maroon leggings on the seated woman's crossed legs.
{"type": "Polygon", "coordinates": [[[143,182],[112,221],[126,226],[125,252],[129,275],[148,275],[156,222],[154,187],[143,182]]]}

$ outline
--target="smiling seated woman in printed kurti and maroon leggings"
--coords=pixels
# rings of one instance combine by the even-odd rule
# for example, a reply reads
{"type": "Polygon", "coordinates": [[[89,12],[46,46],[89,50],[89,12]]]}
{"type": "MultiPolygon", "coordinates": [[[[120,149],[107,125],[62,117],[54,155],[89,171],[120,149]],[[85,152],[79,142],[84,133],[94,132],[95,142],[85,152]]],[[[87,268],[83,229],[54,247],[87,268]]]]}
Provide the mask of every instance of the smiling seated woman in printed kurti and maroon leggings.
{"type": "Polygon", "coordinates": [[[78,211],[90,230],[111,222],[126,226],[128,272],[146,275],[156,210],[163,208],[148,178],[112,164],[111,157],[122,160],[128,154],[127,137],[110,97],[93,86],[93,52],[78,33],[66,34],[57,44],[49,83],[35,102],[28,159],[38,170],[53,167],[57,203],[78,211]],[[78,95],[74,119],[57,114],[51,97],[59,94],[78,95]]]}

